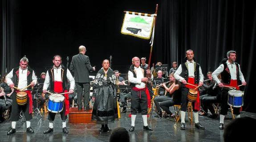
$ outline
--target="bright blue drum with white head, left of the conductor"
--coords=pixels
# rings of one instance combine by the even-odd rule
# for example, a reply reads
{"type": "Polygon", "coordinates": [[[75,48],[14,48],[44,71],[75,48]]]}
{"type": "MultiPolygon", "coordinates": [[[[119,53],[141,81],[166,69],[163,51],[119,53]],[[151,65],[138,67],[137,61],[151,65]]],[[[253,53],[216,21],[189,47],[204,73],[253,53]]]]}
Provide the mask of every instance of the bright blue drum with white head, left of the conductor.
{"type": "Polygon", "coordinates": [[[53,113],[59,113],[63,110],[65,97],[59,94],[49,96],[48,110],[53,113]]]}

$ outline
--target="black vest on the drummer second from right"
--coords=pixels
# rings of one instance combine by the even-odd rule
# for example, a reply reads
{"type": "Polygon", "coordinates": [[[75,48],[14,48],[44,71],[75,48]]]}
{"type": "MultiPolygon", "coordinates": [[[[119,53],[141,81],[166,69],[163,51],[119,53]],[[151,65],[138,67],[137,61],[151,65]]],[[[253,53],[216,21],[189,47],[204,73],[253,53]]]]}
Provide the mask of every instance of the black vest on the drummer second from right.
{"type": "MultiPolygon", "coordinates": [[[[198,63],[195,63],[195,69],[194,69],[194,75],[195,75],[195,82],[194,84],[199,84],[199,67],[200,65],[198,63]]],[[[185,65],[185,63],[181,64],[182,73],[180,73],[180,76],[183,77],[186,81],[188,80],[188,69],[185,65]]]]}

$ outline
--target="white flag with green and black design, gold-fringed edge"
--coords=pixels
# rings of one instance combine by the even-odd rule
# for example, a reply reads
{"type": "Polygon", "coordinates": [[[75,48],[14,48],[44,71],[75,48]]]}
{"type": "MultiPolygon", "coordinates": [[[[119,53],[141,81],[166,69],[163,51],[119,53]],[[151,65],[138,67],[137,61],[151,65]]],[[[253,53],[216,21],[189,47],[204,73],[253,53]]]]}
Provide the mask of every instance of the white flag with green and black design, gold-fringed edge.
{"type": "Polygon", "coordinates": [[[126,12],[121,33],[138,38],[149,39],[154,25],[154,15],[142,16],[126,12]]]}

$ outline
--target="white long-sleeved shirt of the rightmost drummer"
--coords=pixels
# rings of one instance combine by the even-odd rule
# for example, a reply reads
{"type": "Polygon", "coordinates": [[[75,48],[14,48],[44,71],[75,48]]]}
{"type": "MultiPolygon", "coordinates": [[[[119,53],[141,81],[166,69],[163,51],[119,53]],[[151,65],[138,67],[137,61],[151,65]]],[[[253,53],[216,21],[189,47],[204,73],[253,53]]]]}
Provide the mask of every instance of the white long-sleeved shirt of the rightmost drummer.
{"type": "MultiPolygon", "coordinates": [[[[235,62],[233,63],[230,63],[229,61],[227,61],[227,65],[228,65],[228,69],[230,71],[230,75],[231,75],[231,79],[232,80],[236,80],[236,64],[235,62]]],[[[239,69],[239,78],[242,82],[244,82],[244,75],[243,73],[241,72],[241,69],[240,69],[240,65],[238,64],[238,69],[239,69]]],[[[212,79],[215,80],[217,82],[217,84],[220,83],[219,81],[219,78],[218,78],[218,75],[219,73],[222,73],[224,70],[224,65],[221,64],[219,65],[219,67],[211,74],[212,76],[212,79]]]]}

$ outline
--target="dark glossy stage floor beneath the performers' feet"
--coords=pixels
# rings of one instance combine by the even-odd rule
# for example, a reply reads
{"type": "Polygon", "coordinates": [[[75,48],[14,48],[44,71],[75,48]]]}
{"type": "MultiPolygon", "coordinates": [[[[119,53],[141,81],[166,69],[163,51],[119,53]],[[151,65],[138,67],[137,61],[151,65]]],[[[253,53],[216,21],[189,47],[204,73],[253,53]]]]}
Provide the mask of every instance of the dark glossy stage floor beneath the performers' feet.
{"type": "MultiPolygon", "coordinates": [[[[173,111],[173,107],[170,107],[173,111]]],[[[130,111],[122,114],[118,122],[109,124],[110,128],[125,127],[130,128],[130,111]]],[[[256,118],[255,113],[241,112],[241,116],[256,118]]],[[[0,142],[108,142],[110,134],[99,134],[101,125],[97,124],[67,124],[69,134],[62,133],[62,123],[60,115],[56,115],[54,123],[54,132],[52,134],[43,134],[49,126],[48,114],[34,115],[31,121],[35,133],[26,133],[26,124],[17,122],[16,133],[7,135],[11,127],[10,121],[0,123],[0,142]]],[[[229,112],[225,118],[225,124],[232,120],[229,112]]],[[[135,121],[135,131],[129,132],[130,142],[223,142],[223,130],[219,130],[219,117],[210,119],[206,116],[199,116],[199,122],[206,128],[199,130],[194,127],[194,123],[188,120],[186,113],[186,130],[181,130],[180,120],[176,123],[175,119],[159,119],[148,117],[148,124],[154,128],[153,131],[143,130],[143,120],[140,114],[135,121]]]]}

